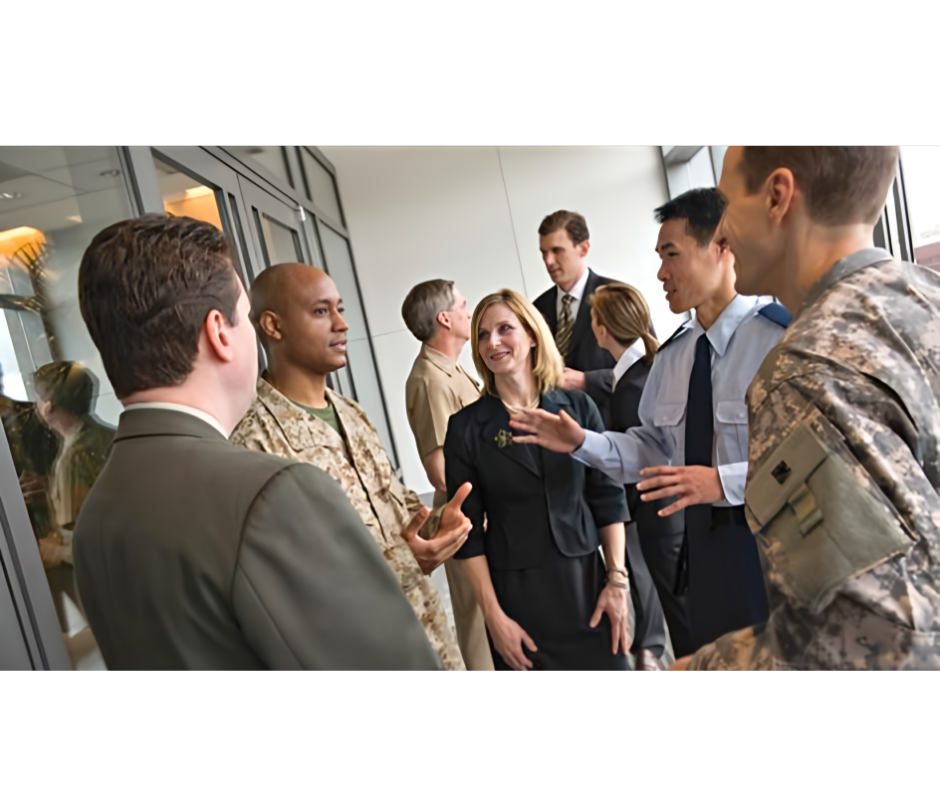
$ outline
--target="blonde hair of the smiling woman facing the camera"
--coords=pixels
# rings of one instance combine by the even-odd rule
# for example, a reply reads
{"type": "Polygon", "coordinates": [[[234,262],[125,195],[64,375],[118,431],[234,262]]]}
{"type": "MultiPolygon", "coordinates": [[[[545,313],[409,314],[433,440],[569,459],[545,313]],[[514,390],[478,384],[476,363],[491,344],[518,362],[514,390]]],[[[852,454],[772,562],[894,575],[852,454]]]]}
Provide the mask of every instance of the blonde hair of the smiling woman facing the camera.
{"type": "Polygon", "coordinates": [[[483,360],[480,353],[480,322],[483,320],[483,314],[493,304],[505,304],[513,314],[519,318],[522,327],[526,333],[535,340],[535,347],[532,348],[530,357],[532,359],[532,374],[539,385],[539,391],[544,393],[550,389],[558,388],[561,385],[562,373],[565,368],[561,360],[561,354],[555,347],[555,339],[552,332],[545,322],[542,314],[525,298],[514,290],[500,290],[498,293],[492,293],[486,296],[477,308],[473,310],[473,321],[470,324],[470,336],[473,343],[473,365],[483,379],[483,385],[486,393],[493,397],[499,396],[496,393],[496,380],[493,373],[483,360]]]}

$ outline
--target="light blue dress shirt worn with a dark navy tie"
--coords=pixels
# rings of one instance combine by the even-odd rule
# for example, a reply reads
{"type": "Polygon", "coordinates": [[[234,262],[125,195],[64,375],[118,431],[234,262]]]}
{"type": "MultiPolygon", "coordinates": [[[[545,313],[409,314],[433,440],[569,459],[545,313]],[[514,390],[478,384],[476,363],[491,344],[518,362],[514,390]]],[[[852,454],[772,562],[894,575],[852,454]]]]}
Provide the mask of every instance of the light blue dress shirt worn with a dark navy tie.
{"type": "Polygon", "coordinates": [[[711,344],[712,404],[718,469],[724,498],[715,506],[744,503],[747,481],[747,405],[744,395],[764,357],[777,344],[783,326],[758,312],[772,299],[735,296],[705,331],[692,318],[669,346],[656,354],[640,399],[641,426],[626,432],[586,432],[572,456],[624,484],[640,481],[651,465],[685,464],[685,414],[695,343],[704,332],[711,344]]]}

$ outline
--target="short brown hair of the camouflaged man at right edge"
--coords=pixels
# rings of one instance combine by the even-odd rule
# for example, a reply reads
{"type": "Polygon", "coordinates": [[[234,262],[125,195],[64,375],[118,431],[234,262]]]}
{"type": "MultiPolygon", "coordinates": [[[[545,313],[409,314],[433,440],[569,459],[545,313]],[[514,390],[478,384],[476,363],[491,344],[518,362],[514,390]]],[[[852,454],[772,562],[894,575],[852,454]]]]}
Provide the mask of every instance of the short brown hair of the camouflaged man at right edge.
{"type": "Polygon", "coordinates": [[[745,145],[740,167],[751,194],[774,170],[790,170],[817,224],[874,224],[899,155],[897,145],[745,145]]]}

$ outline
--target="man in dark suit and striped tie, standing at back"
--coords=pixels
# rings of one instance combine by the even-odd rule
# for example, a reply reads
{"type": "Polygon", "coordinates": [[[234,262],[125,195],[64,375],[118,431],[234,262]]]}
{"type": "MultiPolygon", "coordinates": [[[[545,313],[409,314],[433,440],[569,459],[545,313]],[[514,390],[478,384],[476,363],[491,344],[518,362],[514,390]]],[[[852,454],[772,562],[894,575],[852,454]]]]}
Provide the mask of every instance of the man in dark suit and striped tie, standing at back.
{"type": "Polygon", "coordinates": [[[555,211],[539,225],[539,249],[555,286],[535,301],[565,360],[565,388],[586,391],[609,421],[614,359],[597,344],[591,331],[590,299],[612,282],[587,267],[591,248],[587,222],[574,211],[555,211]]]}

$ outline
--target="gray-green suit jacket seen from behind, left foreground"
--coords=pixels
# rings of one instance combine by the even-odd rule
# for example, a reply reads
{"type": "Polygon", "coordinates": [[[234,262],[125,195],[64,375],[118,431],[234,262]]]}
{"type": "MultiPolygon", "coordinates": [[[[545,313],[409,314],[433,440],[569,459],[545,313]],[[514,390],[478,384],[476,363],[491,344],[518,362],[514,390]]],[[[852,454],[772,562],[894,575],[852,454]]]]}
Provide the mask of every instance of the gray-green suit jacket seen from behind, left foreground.
{"type": "Polygon", "coordinates": [[[121,415],[73,542],[110,669],[436,669],[340,486],[202,420],[121,415]]]}

